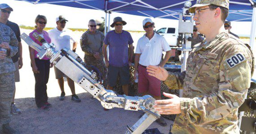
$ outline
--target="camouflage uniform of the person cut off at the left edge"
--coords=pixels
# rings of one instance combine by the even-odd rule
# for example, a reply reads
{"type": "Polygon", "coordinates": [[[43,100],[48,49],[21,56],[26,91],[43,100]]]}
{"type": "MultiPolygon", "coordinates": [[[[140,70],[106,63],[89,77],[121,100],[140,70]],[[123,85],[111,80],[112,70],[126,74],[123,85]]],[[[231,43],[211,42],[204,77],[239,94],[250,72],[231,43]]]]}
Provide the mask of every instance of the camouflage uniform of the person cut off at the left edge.
{"type": "Polygon", "coordinates": [[[10,53],[5,59],[0,59],[0,124],[10,122],[10,109],[15,82],[15,66],[11,57],[18,52],[18,40],[9,26],[0,23],[0,44],[9,42],[10,53]]]}

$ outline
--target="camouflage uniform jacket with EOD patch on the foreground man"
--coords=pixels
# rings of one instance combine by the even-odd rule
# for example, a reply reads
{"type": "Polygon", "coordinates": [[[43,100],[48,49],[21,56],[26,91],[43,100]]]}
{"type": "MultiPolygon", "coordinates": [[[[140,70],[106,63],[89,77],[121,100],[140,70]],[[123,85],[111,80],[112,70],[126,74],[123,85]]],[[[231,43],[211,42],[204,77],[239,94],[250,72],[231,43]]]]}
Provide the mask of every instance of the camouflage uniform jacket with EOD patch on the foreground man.
{"type": "Polygon", "coordinates": [[[183,88],[172,133],[239,134],[238,108],[250,88],[253,67],[249,46],[231,34],[223,32],[197,45],[186,71],[169,72],[165,81],[170,89],[183,88]]]}

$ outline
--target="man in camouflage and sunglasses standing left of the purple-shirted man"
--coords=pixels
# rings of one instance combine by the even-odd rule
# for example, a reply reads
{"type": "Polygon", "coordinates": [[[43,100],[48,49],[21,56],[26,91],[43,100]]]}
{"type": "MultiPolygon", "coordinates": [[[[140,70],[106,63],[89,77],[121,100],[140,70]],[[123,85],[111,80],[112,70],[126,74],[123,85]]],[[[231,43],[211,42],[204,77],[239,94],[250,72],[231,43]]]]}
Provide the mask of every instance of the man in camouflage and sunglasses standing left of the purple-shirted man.
{"type": "Polygon", "coordinates": [[[95,20],[88,22],[88,31],[84,32],[81,36],[80,44],[84,51],[84,62],[99,69],[103,76],[103,85],[106,88],[106,66],[102,55],[102,45],[105,36],[102,32],[96,30],[96,26],[95,20]]]}

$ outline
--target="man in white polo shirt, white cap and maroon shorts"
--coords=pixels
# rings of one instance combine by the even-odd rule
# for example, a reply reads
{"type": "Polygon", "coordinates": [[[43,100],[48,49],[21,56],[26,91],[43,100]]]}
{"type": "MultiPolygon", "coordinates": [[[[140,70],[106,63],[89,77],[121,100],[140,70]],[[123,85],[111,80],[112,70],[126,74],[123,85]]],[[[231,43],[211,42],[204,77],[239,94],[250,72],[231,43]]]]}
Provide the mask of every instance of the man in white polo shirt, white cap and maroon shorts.
{"type": "MultiPolygon", "coordinates": [[[[156,100],[161,99],[161,81],[150,76],[146,71],[149,65],[163,67],[171,56],[171,48],[166,40],[154,32],[154,22],[150,18],[143,20],[143,28],[146,34],[138,40],[135,51],[134,77],[139,75],[138,92],[142,95],[150,94],[156,100]],[[161,62],[163,51],[166,52],[161,62]]],[[[135,78],[136,79],[136,78],[135,78]]],[[[166,126],[166,122],[161,117],[156,120],[161,126],[166,126]]]]}

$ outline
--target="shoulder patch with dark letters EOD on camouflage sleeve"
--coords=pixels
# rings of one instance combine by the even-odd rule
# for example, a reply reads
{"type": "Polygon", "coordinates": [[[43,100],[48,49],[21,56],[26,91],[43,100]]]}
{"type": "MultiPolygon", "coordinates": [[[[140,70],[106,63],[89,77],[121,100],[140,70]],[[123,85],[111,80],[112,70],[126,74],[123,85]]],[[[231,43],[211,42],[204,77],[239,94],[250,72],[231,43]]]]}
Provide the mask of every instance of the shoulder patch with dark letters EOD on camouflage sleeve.
{"type": "Polygon", "coordinates": [[[238,65],[239,63],[242,63],[245,60],[246,59],[243,56],[243,54],[238,53],[238,54],[234,54],[229,59],[226,59],[226,63],[228,63],[229,67],[232,68],[232,67],[235,67],[236,65],[238,65]]]}

